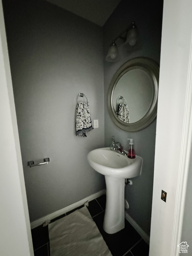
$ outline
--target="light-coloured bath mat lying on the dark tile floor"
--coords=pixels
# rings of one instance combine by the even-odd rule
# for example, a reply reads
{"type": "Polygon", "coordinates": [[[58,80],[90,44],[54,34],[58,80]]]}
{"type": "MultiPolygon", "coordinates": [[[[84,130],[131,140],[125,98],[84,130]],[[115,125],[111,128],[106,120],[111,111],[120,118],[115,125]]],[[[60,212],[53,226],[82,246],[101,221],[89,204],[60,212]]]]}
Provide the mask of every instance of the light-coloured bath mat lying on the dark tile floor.
{"type": "Polygon", "coordinates": [[[112,256],[86,206],[49,224],[51,256],[112,256]]]}

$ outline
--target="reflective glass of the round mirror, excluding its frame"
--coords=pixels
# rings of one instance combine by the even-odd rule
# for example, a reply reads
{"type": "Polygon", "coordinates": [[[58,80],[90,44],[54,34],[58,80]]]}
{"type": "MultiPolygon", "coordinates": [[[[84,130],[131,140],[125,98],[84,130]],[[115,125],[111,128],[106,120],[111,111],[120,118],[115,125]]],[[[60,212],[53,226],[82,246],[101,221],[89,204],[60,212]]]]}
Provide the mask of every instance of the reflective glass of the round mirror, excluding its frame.
{"type": "Polygon", "coordinates": [[[113,92],[113,107],[118,118],[135,123],[148,112],[154,95],[153,79],[142,68],[134,68],[121,76],[113,92]]]}

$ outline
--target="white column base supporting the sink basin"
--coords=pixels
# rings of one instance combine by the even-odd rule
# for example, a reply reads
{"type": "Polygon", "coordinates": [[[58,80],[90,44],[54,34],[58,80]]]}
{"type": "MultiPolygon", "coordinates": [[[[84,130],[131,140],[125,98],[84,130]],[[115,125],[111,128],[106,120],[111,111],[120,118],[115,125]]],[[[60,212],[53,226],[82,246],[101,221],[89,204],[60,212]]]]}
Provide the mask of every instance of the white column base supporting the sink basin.
{"type": "Polygon", "coordinates": [[[103,229],[114,234],[125,227],[125,179],[105,176],[107,199],[103,229]]]}

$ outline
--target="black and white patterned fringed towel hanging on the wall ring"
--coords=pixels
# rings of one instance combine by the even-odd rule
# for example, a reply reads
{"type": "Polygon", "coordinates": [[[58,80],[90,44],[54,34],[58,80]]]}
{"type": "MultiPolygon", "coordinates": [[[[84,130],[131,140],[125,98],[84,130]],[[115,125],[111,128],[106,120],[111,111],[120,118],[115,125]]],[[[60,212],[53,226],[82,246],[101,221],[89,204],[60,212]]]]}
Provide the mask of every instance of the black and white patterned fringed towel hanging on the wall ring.
{"type": "Polygon", "coordinates": [[[87,137],[86,133],[93,130],[89,103],[79,102],[76,107],[76,136],[87,137]]]}

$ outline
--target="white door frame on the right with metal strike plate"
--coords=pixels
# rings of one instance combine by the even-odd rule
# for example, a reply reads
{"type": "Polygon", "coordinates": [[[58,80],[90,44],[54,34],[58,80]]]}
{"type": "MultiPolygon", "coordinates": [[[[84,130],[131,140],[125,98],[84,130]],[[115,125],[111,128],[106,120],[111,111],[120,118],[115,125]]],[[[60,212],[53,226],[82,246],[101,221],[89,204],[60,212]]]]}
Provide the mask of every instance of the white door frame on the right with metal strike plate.
{"type": "Polygon", "coordinates": [[[191,13],[190,0],[164,0],[150,256],[179,255],[182,242],[192,140],[191,13]]]}

